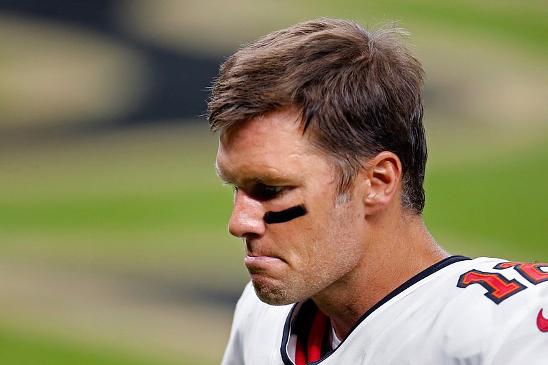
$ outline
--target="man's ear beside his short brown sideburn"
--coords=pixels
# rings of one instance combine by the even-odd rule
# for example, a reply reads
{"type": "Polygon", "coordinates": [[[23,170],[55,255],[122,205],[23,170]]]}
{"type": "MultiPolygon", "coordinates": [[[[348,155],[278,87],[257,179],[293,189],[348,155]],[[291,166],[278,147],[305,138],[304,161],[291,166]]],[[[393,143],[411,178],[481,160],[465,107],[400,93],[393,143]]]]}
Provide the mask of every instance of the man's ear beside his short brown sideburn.
{"type": "Polygon", "coordinates": [[[395,197],[400,196],[401,161],[395,153],[383,151],[371,158],[364,167],[368,187],[364,194],[366,214],[377,214],[393,203],[395,197]]]}

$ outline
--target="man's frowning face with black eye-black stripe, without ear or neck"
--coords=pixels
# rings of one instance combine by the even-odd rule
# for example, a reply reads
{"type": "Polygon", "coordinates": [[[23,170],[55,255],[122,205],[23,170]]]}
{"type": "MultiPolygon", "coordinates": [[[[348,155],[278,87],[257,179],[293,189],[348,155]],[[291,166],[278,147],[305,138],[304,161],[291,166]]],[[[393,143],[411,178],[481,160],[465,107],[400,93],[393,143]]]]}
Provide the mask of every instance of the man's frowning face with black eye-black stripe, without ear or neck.
{"type": "Polygon", "coordinates": [[[244,242],[258,297],[273,305],[344,285],[364,255],[361,190],[336,203],[334,168],[298,118],[285,110],[247,121],[221,134],[217,153],[219,176],[235,188],[229,231],[244,242]]]}

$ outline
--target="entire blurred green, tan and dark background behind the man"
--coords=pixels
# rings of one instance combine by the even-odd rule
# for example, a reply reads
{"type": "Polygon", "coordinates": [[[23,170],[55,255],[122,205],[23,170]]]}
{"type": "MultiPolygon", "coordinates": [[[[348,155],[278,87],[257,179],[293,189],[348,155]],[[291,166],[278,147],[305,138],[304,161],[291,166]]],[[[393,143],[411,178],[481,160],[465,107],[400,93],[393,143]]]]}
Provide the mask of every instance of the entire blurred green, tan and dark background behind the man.
{"type": "Polygon", "coordinates": [[[1,364],[220,362],[247,273],[208,88],[240,45],[319,16],[410,31],[434,238],[548,261],[543,0],[3,0],[1,364]]]}

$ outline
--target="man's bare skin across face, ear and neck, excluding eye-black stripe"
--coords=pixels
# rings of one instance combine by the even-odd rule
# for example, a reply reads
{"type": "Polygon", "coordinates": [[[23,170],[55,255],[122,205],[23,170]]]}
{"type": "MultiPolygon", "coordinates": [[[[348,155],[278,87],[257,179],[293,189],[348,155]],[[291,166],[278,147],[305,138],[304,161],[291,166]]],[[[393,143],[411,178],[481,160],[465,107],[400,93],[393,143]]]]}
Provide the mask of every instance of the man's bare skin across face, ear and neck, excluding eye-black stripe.
{"type": "Polygon", "coordinates": [[[229,231],[242,238],[262,301],[312,298],[344,338],[377,301],[447,254],[421,217],[401,208],[396,155],[364,162],[348,199],[336,199],[334,165],[312,149],[298,118],[281,110],[221,133],[217,172],[235,187],[229,231]],[[265,223],[267,212],[296,205],[307,214],[265,223]]]}

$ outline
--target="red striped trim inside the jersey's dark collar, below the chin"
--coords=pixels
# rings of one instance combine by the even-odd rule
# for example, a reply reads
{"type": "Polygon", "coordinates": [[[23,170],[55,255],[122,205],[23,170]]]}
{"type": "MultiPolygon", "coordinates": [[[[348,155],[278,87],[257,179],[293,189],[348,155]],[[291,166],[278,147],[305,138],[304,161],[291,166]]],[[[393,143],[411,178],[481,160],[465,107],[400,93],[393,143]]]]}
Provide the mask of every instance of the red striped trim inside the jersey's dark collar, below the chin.
{"type": "Polygon", "coordinates": [[[321,310],[317,310],[314,315],[314,321],[308,333],[308,343],[297,338],[297,348],[295,349],[295,364],[306,365],[321,359],[321,344],[327,329],[329,318],[321,310]]]}

